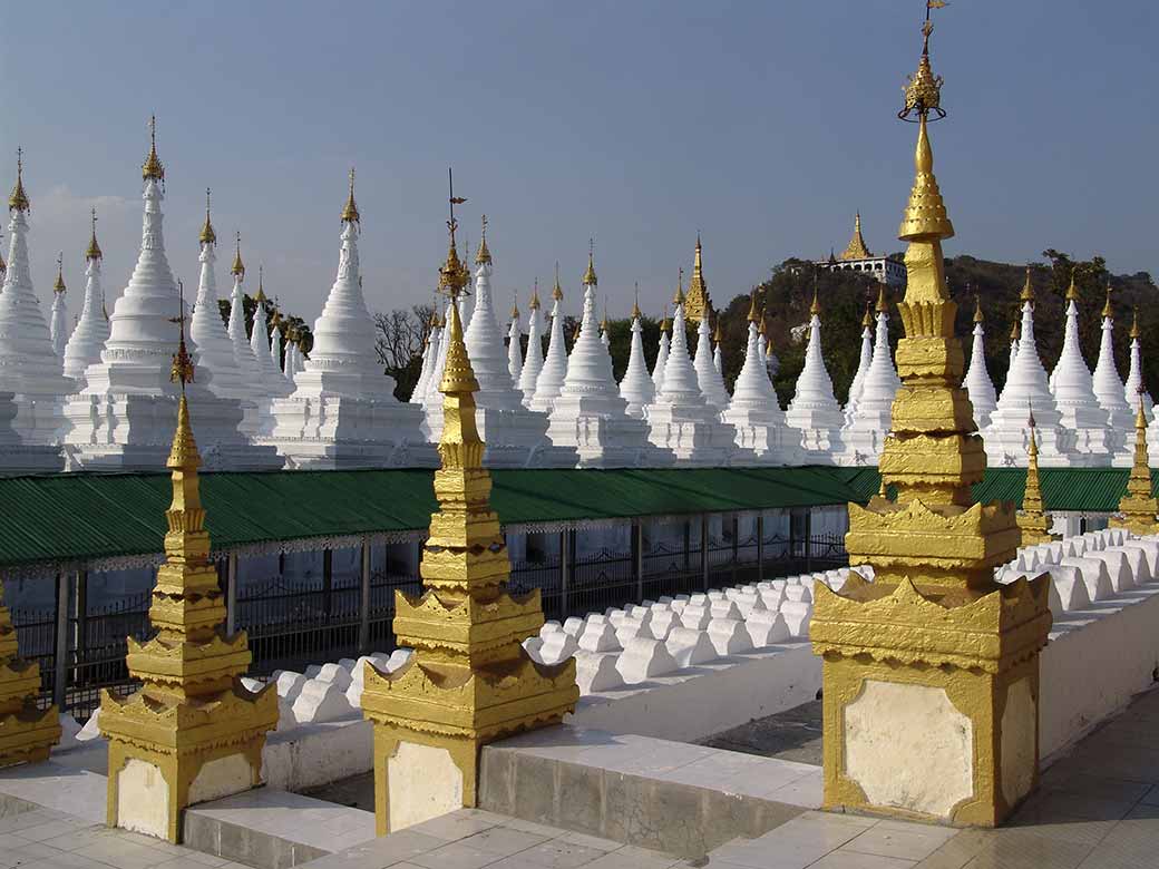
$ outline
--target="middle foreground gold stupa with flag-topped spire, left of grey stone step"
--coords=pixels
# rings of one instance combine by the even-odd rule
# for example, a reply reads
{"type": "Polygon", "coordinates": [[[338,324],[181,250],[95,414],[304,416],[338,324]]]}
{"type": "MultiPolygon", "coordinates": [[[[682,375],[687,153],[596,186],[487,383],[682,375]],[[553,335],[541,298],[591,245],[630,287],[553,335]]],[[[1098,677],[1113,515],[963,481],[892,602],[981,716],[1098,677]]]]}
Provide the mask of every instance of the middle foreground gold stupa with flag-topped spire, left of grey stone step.
{"type": "MultiPolygon", "coordinates": [[[[458,297],[466,285],[451,244],[440,287],[451,298],[439,509],[431,514],[420,574],[423,592],[395,592],[394,631],[415,650],[393,673],[367,665],[362,704],[374,723],[374,815],[379,834],[474,806],[480,748],[509,733],[557,723],[580,698],[575,660],[533,662],[520,643],[544,625],[540,592],[512,596],[490,474],[475,423],[479,389],[462,341],[458,297]]],[[[557,287],[557,285],[556,285],[557,287]]]]}

